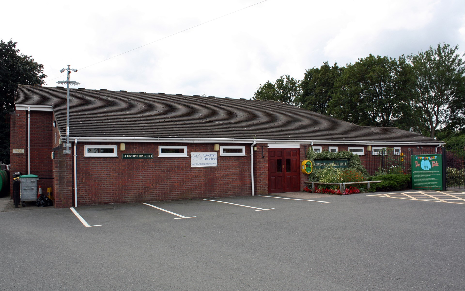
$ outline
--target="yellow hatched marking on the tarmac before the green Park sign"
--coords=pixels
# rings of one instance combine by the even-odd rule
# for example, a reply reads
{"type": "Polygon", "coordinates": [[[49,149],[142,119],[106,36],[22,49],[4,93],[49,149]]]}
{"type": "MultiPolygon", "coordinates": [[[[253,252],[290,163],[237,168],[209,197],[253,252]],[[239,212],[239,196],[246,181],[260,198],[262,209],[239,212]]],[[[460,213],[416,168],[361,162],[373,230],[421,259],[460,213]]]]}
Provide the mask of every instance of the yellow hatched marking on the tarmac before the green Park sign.
{"type": "Polygon", "coordinates": [[[388,197],[388,198],[398,198],[398,199],[418,200],[418,201],[445,202],[445,203],[453,203],[453,204],[465,204],[465,192],[458,192],[458,191],[444,192],[444,191],[427,190],[427,191],[418,191],[418,192],[373,194],[373,195],[367,195],[367,196],[388,197]]]}

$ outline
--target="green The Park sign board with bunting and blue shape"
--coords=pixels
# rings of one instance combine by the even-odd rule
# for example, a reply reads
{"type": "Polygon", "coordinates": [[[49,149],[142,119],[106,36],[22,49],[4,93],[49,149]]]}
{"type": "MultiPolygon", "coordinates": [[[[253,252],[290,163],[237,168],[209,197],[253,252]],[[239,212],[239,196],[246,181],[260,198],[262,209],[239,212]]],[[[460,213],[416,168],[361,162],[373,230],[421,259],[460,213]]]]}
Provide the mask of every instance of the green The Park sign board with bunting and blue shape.
{"type": "Polygon", "coordinates": [[[412,189],[443,190],[442,155],[412,155],[412,189]]]}

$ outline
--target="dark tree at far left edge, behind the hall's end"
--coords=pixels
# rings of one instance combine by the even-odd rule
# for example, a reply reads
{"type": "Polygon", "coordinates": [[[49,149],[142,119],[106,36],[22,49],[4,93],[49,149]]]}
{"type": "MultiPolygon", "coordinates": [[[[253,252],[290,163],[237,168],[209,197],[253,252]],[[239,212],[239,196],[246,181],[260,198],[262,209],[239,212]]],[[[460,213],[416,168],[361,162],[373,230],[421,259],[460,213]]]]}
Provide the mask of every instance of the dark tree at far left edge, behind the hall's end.
{"type": "Polygon", "coordinates": [[[18,85],[45,84],[43,67],[32,56],[20,54],[17,42],[0,40],[0,162],[10,161],[10,128],[7,113],[14,111],[18,85]]]}

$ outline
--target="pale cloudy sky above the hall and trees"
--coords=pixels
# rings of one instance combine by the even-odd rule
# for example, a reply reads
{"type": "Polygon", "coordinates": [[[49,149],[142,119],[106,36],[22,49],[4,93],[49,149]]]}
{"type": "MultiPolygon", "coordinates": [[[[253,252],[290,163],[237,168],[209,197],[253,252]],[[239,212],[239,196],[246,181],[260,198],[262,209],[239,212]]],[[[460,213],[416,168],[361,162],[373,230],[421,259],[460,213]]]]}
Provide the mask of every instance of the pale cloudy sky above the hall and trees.
{"type": "Polygon", "coordinates": [[[7,1],[0,39],[44,65],[46,86],[71,65],[86,89],[246,99],[326,61],[465,48],[463,0],[261,1],[7,1]]]}

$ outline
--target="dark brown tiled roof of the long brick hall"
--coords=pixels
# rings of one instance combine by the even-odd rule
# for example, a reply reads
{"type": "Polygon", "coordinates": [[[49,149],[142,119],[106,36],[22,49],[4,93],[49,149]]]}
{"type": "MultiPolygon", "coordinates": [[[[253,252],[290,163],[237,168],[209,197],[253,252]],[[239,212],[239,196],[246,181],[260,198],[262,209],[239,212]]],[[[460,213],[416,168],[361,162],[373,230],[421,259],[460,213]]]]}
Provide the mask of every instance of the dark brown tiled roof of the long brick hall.
{"type": "MultiPolygon", "coordinates": [[[[306,139],[438,143],[398,128],[358,126],[281,102],[70,89],[70,136],[306,139]]],[[[16,104],[53,106],[66,132],[66,88],[18,86],[16,104]]]]}

